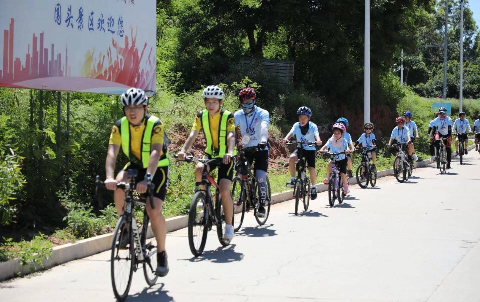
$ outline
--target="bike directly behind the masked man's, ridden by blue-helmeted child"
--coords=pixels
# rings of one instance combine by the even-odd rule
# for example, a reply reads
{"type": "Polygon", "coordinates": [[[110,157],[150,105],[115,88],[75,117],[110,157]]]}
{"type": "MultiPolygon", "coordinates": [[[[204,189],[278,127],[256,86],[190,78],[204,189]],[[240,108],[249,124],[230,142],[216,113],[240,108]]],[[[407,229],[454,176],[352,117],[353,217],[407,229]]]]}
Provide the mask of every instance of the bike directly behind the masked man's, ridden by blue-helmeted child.
{"type": "Polygon", "coordinates": [[[308,206],[310,204],[310,177],[307,176],[306,172],[306,161],[303,158],[303,147],[306,146],[316,146],[316,142],[314,141],[288,141],[287,145],[295,145],[297,146],[297,163],[295,167],[297,169],[297,178],[295,179],[295,187],[293,189],[293,196],[295,196],[295,215],[298,214],[299,209],[299,202],[300,199],[303,201],[303,209],[305,211],[308,210],[308,206]],[[299,147],[300,145],[300,147],[299,147]]]}

